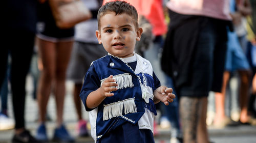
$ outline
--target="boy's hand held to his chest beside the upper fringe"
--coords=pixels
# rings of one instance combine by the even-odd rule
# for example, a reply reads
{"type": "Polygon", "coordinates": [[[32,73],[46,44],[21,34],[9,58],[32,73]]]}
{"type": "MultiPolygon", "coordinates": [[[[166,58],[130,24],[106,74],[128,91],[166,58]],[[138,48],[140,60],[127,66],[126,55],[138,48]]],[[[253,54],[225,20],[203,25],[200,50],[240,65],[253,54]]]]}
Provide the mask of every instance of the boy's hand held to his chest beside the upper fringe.
{"type": "Polygon", "coordinates": [[[105,96],[105,97],[114,96],[114,93],[111,93],[111,92],[117,91],[117,88],[115,87],[118,87],[118,84],[116,83],[116,79],[113,78],[113,75],[110,75],[101,84],[100,93],[102,96],[105,96]]]}

